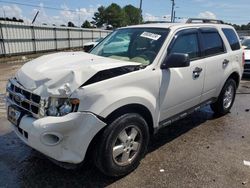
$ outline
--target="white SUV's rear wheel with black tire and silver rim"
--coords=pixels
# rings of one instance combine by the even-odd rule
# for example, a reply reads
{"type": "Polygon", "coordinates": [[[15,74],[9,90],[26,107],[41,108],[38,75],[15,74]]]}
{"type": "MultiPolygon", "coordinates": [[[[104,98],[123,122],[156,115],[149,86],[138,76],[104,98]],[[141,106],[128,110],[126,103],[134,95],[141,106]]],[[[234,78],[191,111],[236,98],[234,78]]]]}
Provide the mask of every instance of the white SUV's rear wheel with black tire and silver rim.
{"type": "Polygon", "coordinates": [[[216,115],[222,116],[231,110],[236,95],[236,88],[235,80],[230,78],[226,81],[218,100],[210,105],[216,115]]]}

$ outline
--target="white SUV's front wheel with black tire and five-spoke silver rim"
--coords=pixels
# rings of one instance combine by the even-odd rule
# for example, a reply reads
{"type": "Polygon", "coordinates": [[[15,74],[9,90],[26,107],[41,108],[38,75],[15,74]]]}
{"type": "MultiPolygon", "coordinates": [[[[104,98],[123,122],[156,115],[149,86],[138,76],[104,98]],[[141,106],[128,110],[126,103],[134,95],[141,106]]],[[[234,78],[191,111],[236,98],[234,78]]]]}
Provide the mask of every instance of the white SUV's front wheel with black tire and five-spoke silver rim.
{"type": "Polygon", "coordinates": [[[95,164],[108,176],[133,171],[144,157],[149,141],[147,122],[136,113],[124,114],[104,130],[95,152],[95,164]]]}

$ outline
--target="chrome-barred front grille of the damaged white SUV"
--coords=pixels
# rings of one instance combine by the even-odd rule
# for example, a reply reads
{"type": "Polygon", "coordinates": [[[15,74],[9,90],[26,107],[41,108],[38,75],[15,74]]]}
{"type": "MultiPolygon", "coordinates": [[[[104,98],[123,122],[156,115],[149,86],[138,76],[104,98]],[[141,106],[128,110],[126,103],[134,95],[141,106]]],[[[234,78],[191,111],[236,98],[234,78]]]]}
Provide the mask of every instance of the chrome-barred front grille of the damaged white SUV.
{"type": "Polygon", "coordinates": [[[23,110],[37,116],[41,97],[24,89],[15,79],[10,80],[7,87],[8,99],[23,110]]]}

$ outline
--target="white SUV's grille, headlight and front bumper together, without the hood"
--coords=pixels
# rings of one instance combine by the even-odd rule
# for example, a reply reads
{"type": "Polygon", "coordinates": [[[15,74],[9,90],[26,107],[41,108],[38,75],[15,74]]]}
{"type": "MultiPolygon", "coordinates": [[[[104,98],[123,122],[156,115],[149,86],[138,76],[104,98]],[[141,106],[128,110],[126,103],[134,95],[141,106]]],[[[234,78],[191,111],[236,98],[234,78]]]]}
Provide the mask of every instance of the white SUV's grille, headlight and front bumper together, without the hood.
{"type": "Polygon", "coordinates": [[[76,98],[40,97],[10,79],[7,117],[17,136],[49,158],[80,163],[88,145],[106,124],[92,113],[77,112],[76,98]]]}

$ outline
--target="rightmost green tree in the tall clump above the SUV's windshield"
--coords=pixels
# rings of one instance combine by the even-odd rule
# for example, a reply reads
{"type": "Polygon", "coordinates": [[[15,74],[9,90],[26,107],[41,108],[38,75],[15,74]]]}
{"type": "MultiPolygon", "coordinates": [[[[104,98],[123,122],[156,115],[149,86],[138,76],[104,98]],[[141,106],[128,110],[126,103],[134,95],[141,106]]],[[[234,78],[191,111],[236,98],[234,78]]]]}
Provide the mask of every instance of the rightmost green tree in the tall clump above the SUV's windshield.
{"type": "Polygon", "coordinates": [[[127,25],[136,25],[136,24],[142,23],[140,9],[132,5],[127,5],[123,8],[123,10],[126,13],[127,25]]]}

